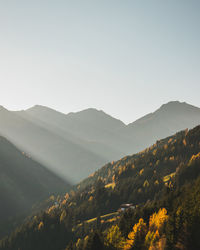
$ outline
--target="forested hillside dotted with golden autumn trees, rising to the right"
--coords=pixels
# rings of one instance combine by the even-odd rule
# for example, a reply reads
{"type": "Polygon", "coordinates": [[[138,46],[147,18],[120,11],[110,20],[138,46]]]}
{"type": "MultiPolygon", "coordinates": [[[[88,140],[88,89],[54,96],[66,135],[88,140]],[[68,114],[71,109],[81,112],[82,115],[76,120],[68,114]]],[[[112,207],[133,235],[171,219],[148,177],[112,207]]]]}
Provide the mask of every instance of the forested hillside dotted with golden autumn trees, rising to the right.
{"type": "Polygon", "coordinates": [[[199,166],[200,126],[107,164],[0,249],[199,249],[199,166]]]}

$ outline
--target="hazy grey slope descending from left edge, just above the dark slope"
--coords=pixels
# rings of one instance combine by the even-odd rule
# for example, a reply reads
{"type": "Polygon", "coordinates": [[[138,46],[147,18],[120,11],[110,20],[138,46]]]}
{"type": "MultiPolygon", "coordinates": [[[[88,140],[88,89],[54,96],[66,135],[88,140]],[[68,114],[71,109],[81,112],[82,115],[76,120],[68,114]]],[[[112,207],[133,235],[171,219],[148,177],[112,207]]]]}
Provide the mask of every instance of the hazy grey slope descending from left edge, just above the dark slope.
{"type": "Polygon", "coordinates": [[[4,108],[0,110],[0,133],[70,182],[80,180],[107,161],[73,141],[52,133],[45,126],[4,108]]]}

